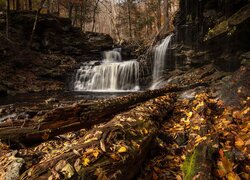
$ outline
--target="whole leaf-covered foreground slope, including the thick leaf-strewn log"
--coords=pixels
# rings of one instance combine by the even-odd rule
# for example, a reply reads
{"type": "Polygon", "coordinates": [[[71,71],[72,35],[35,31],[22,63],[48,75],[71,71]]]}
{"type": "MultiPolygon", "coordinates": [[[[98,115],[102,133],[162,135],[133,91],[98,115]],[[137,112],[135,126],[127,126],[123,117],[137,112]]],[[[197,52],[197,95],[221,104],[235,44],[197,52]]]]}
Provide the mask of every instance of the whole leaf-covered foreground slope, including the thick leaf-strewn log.
{"type": "Polygon", "coordinates": [[[189,88],[152,91],[101,124],[52,140],[44,133],[30,147],[0,142],[0,179],[250,179],[249,68],[173,75],[166,88],[189,88]]]}

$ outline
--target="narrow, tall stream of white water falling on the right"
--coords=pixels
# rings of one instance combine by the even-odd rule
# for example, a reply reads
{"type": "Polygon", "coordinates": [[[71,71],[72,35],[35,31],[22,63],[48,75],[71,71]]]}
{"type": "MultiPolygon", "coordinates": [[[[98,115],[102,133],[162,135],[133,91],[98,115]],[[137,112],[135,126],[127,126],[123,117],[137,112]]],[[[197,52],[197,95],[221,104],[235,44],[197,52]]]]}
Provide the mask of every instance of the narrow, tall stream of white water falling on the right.
{"type": "Polygon", "coordinates": [[[157,89],[164,84],[161,78],[165,69],[166,51],[172,36],[173,34],[168,35],[163,42],[155,48],[153,82],[150,89],[157,89]]]}

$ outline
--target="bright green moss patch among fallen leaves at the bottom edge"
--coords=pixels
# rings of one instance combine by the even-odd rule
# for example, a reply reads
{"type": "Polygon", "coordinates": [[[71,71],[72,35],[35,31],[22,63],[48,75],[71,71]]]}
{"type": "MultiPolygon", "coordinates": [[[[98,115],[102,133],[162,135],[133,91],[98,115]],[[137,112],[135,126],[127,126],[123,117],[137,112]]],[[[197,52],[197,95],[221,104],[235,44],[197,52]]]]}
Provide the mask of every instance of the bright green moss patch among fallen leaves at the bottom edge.
{"type": "Polygon", "coordinates": [[[184,172],[184,180],[192,179],[196,174],[198,151],[194,150],[192,155],[188,155],[182,165],[182,171],[184,172]]]}

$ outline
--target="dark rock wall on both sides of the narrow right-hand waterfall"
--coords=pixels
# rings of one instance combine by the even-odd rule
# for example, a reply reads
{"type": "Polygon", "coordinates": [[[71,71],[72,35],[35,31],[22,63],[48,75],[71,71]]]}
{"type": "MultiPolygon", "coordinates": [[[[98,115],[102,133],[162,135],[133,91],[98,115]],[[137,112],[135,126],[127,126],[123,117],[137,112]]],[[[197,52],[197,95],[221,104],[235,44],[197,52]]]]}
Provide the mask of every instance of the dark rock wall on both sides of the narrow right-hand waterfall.
{"type": "MultiPolygon", "coordinates": [[[[180,0],[163,78],[170,78],[169,71],[176,69],[186,71],[214,64],[218,70],[231,72],[249,64],[249,12],[247,0],[180,0]]],[[[152,81],[153,59],[152,47],[140,58],[142,86],[152,81]]]]}

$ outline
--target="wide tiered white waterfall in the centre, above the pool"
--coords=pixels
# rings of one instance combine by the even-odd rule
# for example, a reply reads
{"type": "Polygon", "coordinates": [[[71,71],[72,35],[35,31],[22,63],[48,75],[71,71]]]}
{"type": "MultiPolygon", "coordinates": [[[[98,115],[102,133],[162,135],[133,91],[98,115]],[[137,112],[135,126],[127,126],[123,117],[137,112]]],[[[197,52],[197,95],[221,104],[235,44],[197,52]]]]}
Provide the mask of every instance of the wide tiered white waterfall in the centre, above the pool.
{"type": "Polygon", "coordinates": [[[76,72],[75,91],[124,91],[139,90],[139,63],[122,61],[119,49],[104,52],[99,63],[84,63],[76,72]]]}

